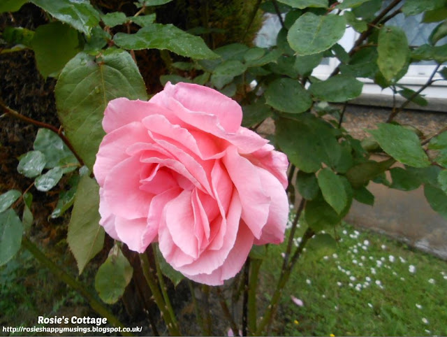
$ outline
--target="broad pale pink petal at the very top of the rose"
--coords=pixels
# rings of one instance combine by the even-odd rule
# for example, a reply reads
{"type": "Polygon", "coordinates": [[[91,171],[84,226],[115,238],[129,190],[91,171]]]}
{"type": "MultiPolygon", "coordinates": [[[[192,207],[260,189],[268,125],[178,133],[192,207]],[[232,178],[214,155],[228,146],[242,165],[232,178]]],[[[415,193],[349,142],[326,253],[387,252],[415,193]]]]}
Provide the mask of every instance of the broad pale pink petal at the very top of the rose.
{"type": "Polygon", "coordinates": [[[163,91],[150,101],[163,104],[166,102],[166,97],[175,99],[191,111],[187,116],[179,116],[191,125],[201,124],[204,115],[215,115],[225,131],[234,133],[242,122],[242,108],[237,102],[217,90],[202,85],[190,83],[172,85],[168,82],[163,91]]]}

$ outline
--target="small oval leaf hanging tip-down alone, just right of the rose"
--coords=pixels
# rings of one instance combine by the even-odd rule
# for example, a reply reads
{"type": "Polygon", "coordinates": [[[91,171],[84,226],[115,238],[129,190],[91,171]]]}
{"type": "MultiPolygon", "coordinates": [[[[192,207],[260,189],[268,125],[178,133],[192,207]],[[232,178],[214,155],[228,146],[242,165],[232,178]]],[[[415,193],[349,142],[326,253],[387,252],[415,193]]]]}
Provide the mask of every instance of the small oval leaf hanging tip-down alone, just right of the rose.
{"type": "Polygon", "coordinates": [[[325,168],[318,173],[318,185],[321,188],[321,193],[325,201],[338,214],[342,213],[348,201],[342,178],[330,169],[325,168]]]}

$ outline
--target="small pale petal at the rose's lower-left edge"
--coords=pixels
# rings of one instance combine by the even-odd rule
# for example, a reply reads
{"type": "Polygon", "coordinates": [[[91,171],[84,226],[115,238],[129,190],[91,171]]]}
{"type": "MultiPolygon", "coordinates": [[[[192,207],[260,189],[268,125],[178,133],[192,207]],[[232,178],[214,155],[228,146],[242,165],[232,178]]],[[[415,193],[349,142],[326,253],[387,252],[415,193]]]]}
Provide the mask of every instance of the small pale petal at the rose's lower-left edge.
{"type": "Polygon", "coordinates": [[[147,245],[142,244],[142,235],[146,229],[146,217],[138,219],[124,219],[124,217],[115,218],[115,229],[119,240],[126,243],[130,250],[142,253],[146,250],[147,245]]]}

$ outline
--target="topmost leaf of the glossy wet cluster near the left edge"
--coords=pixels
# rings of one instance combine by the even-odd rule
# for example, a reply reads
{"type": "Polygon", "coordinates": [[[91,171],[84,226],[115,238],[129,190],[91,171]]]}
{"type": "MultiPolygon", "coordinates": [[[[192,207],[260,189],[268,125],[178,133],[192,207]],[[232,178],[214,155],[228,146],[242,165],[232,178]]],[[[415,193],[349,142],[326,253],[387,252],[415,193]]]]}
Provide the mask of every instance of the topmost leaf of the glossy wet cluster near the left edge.
{"type": "Polygon", "coordinates": [[[38,150],[45,155],[45,169],[58,166],[62,159],[64,159],[64,162],[78,164],[78,160],[64,141],[49,129],[38,129],[33,147],[34,150],[38,150]]]}

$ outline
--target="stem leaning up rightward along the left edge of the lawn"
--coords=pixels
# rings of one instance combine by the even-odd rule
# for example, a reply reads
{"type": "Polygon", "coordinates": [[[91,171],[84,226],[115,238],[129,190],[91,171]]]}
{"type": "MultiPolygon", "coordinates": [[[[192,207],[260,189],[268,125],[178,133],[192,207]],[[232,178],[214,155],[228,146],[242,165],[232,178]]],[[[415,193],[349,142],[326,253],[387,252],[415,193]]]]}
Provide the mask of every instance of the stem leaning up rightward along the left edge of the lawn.
{"type": "Polygon", "coordinates": [[[298,245],[298,248],[295,251],[295,254],[293,254],[293,257],[286,265],[286,268],[283,268],[281,270],[281,275],[279,276],[277,287],[276,289],[274,289],[274,294],[272,296],[272,299],[270,300],[267,310],[265,310],[265,315],[258,325],[258,329],[256,330],[255,334],[256,336],[261,336],[261,334],[266,334],[268,332],[267,330],[270,327],[272,317],[274,315],[274,312],[276,311],[279,299],[281,299],[282,291],[286,286],[288,278],[291,275],[293,266],[295,265],[296,261],[298,261],[298,258],[300,257],[302,250],[305,248],[307,241],[309,241],[309,238],[312,238],[314,234],[315,233],[312,229],[307,228],[305,234],[303,234],[302,236],[302,241],[300,242],[300,245],[298,245]]]}

